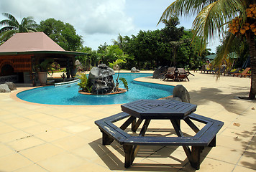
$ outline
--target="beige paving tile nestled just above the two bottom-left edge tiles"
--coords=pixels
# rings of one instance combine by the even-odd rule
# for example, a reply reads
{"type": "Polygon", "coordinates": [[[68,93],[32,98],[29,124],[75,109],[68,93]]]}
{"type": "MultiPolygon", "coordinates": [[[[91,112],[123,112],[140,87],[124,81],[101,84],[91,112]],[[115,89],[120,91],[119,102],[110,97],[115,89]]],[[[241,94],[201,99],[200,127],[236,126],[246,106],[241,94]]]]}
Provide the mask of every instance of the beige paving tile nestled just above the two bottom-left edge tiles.
{"type": "Polygon", "coordinates": [[[37,145],[33,148],[28,148],[24,151],[20,151],[19,153],[33,162],[38,162],[62,152],[64,152],[63,149],[50,143],[45,143],[42,145],[37,145]]]}

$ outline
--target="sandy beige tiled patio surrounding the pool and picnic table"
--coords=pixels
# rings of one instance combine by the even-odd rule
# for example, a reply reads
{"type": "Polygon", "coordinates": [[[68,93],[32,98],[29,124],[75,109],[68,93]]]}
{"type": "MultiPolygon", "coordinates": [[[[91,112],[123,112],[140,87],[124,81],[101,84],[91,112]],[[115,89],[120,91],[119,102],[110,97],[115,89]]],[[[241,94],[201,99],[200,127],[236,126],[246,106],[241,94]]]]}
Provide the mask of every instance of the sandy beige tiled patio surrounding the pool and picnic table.
{"type": "MultiPolygon", "coordinates": [[[[189,76],[190,82],[140,80],[182,84],[190,92],[191,103],[198,105],[196,113],[224,122],[216,147],[203,151],[198,171],[256,171],[256,102],[237,99],[248,95],[250,78],[221,77],[216,81],[210,74],[194,75],[189,76]]],[[[195,171],[182,147],[172,146],[142,146],[134,165],[126,169],[122,146],[115,142],[101,145],[101,132],[94,124],[119,113],[120,105],[38,105],[13,98],[24,89],[0,94],[1,172],[195,171]]],[[[163,120],[150,123],[156,135],[171,135],[170,126],[163,120]]],[[[184,131],[190,132],[186,126],[184,131]]]]}

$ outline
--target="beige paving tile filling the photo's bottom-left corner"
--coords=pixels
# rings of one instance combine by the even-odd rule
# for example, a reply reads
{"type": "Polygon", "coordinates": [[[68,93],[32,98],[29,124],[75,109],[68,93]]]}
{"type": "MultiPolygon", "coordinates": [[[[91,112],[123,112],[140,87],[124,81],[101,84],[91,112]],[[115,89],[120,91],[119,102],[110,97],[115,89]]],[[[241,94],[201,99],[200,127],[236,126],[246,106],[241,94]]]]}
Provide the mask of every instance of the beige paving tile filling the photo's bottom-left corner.
{"type": "Polygon", "coordinates": [[[32,161],[19,155],[19,153],[12,153],[0,158],[0,171],[15,171],[32,164],[32,161]]]}

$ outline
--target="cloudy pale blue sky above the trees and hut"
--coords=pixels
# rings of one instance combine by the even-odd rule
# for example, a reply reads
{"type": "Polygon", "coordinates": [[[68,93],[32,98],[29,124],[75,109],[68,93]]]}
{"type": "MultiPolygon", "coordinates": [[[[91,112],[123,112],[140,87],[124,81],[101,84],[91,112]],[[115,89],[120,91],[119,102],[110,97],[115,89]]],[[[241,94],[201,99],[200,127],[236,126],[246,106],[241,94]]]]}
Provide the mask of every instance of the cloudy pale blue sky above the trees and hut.
{"type": "MultiPolygon", "coordinates": [[[[12,14],[20,23],[23,17],[33,16],[40,24],[54,18],[73,25],[83,37],[83,46],[97,50],[101,44],[112,44],[118,35],[137,35],[140,30],[165,27],[157,23],[163,11],[174,0],[1,0],[0,13],[12,14]]],[[[5,19],[0,14],[0,20],[5,19]]],[[[180,18],[178,27],[191,29],[194,17],[180,18]]],[[[210,41],[215,52],[218,41],[210,41]]]]}

